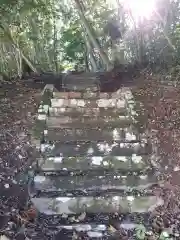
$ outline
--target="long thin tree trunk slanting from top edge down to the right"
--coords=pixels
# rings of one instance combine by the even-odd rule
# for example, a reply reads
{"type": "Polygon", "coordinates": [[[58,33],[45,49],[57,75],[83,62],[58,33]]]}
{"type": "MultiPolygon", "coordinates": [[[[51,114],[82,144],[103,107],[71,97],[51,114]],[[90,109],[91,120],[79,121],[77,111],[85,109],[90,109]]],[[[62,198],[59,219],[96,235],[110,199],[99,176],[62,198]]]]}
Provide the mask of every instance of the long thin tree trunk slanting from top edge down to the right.
{"type": "Polygon", "coordinates": [[[99,51],[99,54],[100,54],[100,56],[101,56],[101,59],[102,59],[104,65],[106,66],[107,70],[110,69],[112,66],[111,66],[111,64],[110,64],[110,61],[109,61],[109,59],[108,59],[108,56],[107,56],[106,53],[102,50],[99,42],[97,41],[96,37],[94,36],[94,34],[93,34],[93,32],[92,32],[92,30],[91,30],[91,28],[90,28],[90,25],[89,25],[87,19],[86,19],[85,16],[84,16],[84,13],[83,13],[83,11],[82,11],[81,4],[80,4],[79,0],[74,0],[74,1],[75,1],[75,3],[76,3],[76,6],[77,6],[77,10],[78,10],[78,13],[79,13],[79,17],[80,17],[80,19],[81,19],[81,21],[82,21],[82,23],[83,23],[83,25],[84,25],[84,27],[85,27],[85,29],[86,29],[86,32],[87,32],[87,34],[88,34],[88,37],[89,37],[90,41],[92,42],[93,46],[94,46],[95,48],[97,48],[97,50],[99,51]]]}

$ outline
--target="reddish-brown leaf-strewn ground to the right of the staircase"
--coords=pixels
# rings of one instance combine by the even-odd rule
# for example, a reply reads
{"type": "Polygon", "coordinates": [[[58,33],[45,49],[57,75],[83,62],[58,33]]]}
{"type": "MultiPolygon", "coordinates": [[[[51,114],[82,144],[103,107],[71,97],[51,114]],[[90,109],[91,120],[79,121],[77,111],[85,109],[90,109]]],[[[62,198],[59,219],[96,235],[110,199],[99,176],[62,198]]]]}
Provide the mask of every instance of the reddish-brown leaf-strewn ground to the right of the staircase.
{"type": "Polygon", "coordinates": [[[180,88],[162,85],[151,77],[138,79],[134,94],[144,104],[147,129],[159,155],[156,161],[164,171],[167,202],[161,214],[179,214],[180,88]]]}

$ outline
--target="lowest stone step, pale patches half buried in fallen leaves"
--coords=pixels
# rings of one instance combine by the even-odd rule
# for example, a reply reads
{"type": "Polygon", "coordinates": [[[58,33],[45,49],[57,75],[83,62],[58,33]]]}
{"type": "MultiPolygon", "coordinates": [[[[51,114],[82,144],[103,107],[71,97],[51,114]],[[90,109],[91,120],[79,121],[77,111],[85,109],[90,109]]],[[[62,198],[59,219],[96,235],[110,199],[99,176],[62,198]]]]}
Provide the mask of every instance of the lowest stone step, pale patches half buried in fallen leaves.
{"type": "MultiPolygon", "coordinates": [[[[112,222],[113,222],[113,226],[114,226],[114,223],[115,223],[115,226],[117,224],[117,226],[121,229],[122,232],[127,232],[127,229],[131,229],[132,235],[134,236],[135,229],[136,229],[136,227],[139,226],[139,223],[138,223],[138,220],[135,221],[134,219],[133,219],[134,221],[130,221],[129,215],[130,214],[127,214],[127,213],[124,214],[123,221],[121,221],[121,222],[118,221],[119,217],[117,217],[117,219],[116,219],[116,215],[115,215],[115,217],[114,217],[116,219],[115,220],[115,219],[113,219],[113,216],[112,216],[112,219],[113,219],[112,222]],[[124,218],[127,220],[124,220],[124,218]]],[[[143,214],[141,214],[141,219],[143,219],[147,222],[147,217],[143,218],[142,215],[143,214]]],[[[146,214],[144,214],[144,215],[146,216],[146,214]]],[[[66,220],[67,223],[65,224],[64,218],[62,221],[63,224],[60,224],[60,220],[58,222],[56,221],[57,223],[53,224],[54,229],[57,229],[57,233],[55,234],[54,239],[64,239],[65,238],[66,240],[72,240],[73,238],[76,237],[77,239],[112,240],[112,239],[117,239],[117,235],[118,235],[118,237],[122,236],[122,235],[124,236],[123,233],[122,234],[119,233],[119,231],[116,230],[116,228],[112,227],[110,224],[107,223],[107,220],[105,220],[105,219],[107,219],[107,216],[108,216],[107,214],[106,215],[98,214],[97,218],[95,216],[92,217],[92,214],[90,214],[90,216],[91,216],[91,218],[89,216],[86,216],[85,219],[86,218],[93,219],[93,220],[97,219],[97,221],[92,221],[92,222],[84,221],[85,223],[79,223],[80,221],[79,221],[78,217],[76,220],[78,223],[69,223],[68,220],[66,220]],[[98,217],[99,217],[100,221],[98,221],[98,217]],[[102,218],[104,218],[104,221],[102,220],[102,218]],[[102,224],[102,221],[105,222],[105,224],[102,224]],[[99,222],[99,224],[98,224],[98,222],[99,222]],[[61,231],[58,231],[59,228],[61,228],[61,231]]],[[[131,218],[132,218],[132,214],[131,214],[131,218]]]]}

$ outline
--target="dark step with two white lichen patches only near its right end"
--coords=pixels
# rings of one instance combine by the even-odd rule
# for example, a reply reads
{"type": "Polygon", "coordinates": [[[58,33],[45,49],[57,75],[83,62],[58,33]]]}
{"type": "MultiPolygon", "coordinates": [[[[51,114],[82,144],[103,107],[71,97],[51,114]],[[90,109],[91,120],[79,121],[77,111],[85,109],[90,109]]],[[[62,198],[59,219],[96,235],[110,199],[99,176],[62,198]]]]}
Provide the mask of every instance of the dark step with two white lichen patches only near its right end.
{"type": "MultiPolygon", "coordinates": [[[[114,124],[112,124],[114,125],[114,124]]],[[[45,131],[44,139],[48,141],[122,141],[135,142],[140,141],[140,135],[132,127],[129,128],[114,128],[108,124],[104,128],[91,128],[86,124],[79,122],[78,124],[66,124],[69,128],[66,129],[48,129],[45,131]],[[78,126],[79,128],[74,128],[78,126]],[[86,126],[87,128],[83,128],[86,126]],[[71,128],[72,127],[72,128],[71,128]],[[82,128],[81,128],[82,127],[82,128]],[[89,127],[89,128],[88,128],[89,127]],[[109,127],[109,128],[108,128],[109,127]]],[[[118,126],[119,124],[116,124],[118,126]]],[[[97,125],[96,125],[97,126],[97,125]]],[[[102,126],[101,126],[102,127],[102,126]]]]}

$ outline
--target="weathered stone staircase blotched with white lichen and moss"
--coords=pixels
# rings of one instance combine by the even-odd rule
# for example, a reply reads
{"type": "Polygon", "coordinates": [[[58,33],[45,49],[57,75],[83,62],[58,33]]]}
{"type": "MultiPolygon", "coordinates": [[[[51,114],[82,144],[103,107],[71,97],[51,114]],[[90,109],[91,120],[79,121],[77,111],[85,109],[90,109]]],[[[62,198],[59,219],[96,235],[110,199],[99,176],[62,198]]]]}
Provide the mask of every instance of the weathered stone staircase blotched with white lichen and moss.
{"type": "Polygon", "coordinates": [[[54,226],[78,232],[89,223],[88,234],[93,226],[104,234],[110,220],[127,226],[162,205],[152,191],[160,183],[130,89],[76,90],[44,90],[34,130],[41,157],[29,193],[44,217],[58,216],[54,226]]]}

